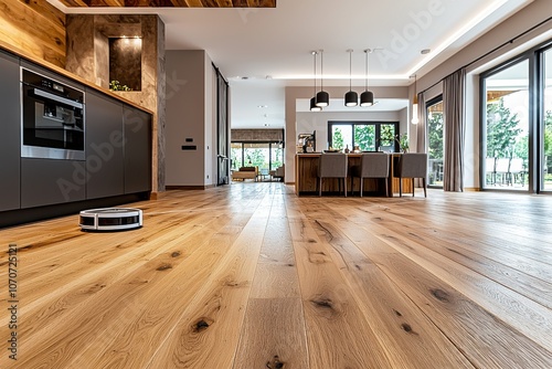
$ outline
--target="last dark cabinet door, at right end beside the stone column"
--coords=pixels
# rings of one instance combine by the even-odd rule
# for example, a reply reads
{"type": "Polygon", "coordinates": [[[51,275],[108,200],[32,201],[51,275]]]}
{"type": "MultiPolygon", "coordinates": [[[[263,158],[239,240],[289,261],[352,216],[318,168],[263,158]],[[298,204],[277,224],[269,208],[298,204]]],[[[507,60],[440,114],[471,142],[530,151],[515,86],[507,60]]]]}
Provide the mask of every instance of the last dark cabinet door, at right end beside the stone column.
{"type": "Polygon", "coordinates": [[[151,191],[151,115],[125,105],[125,193],[151,191]]]}

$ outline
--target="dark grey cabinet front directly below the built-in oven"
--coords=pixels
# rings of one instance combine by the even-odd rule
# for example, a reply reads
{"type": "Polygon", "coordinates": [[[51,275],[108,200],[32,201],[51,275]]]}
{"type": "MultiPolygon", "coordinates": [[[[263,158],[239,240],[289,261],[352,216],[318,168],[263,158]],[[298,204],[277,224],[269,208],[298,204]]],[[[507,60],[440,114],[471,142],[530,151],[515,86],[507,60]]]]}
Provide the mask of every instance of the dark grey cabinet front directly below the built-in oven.
{"type": "Polygon", "coordinates": [[[85,161],[21,158],[21,208],[85,199],[85,161]]]}

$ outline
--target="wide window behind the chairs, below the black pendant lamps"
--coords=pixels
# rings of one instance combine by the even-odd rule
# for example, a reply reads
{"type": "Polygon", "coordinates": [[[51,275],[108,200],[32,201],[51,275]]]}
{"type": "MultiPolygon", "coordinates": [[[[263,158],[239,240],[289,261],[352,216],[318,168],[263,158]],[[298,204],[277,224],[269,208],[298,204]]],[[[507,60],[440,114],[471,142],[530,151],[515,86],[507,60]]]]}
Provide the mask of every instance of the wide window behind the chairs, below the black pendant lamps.
{"type": "Polygon", "coordinates": [[[399,123],[329,122],[328,145],[338,150],[397,151],[399,123]]]}

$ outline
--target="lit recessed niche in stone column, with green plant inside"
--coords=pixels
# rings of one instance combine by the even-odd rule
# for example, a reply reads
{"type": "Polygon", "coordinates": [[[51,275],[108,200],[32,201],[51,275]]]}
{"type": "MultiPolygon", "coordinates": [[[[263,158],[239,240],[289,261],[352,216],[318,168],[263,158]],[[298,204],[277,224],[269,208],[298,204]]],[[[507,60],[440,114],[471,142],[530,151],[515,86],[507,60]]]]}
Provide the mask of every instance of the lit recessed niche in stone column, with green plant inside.
{"type": "Polygon", "coordinates": [[[141,89],[141,38],[108,38],[109,88],[141,89]]]}

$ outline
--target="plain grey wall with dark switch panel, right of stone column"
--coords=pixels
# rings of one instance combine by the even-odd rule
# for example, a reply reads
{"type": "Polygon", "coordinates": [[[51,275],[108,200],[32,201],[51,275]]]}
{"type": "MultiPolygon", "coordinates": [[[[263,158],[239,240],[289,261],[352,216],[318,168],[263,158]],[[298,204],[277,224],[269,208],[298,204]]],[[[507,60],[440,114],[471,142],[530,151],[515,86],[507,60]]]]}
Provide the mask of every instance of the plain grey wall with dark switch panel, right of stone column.
{"type": "Polygon", "coordinates": [[[216,175],[211,60],[204,51],[167,51],[166,70],[166,184],[211,186],[216,175]],[[185,145],[197,149],[182,150],[185,145]]]}

